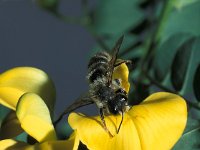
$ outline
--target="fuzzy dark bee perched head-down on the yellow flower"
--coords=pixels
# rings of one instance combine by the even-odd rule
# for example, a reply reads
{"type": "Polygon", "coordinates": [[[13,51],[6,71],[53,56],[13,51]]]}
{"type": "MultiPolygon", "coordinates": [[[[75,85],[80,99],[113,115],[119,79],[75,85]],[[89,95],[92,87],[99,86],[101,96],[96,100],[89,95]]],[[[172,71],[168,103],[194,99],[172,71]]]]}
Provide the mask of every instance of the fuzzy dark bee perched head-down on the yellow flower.
{"type": "Polygon", "coordinates": [[[119,133],[123,122],[124,112],[130,108],[128,105],[128,94],[121,86],[121,79],[112,79],[115,67],[122,63],[130,63],[129,60],[117,59],[122,41],[123,36],[116,42],[111,54],[106,51],[101,51],[91,57],[88,63],[87,74],[89,91],[84,96],[79,97],[72,105],[67,107],[54,124],[57,124],[65,114],[82,106],[95,103],[99,108],[102,126],[110,136],[112,136],[112,134],[106,126],[104,116],[109,114],[121,114],[122,119],[117,129],[117,133],[119,133]]]}

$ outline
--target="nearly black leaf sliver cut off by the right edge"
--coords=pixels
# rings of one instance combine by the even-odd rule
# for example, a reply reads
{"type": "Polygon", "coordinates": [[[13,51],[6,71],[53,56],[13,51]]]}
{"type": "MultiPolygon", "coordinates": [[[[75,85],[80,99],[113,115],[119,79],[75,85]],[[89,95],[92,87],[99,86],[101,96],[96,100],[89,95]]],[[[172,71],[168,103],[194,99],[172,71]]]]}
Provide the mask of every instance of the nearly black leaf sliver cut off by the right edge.
{"type": "Polygon", "coordinates": [[[198,101],[200,101],[200,64],[196,70],[193,81],[194,94],[198,101]]]}

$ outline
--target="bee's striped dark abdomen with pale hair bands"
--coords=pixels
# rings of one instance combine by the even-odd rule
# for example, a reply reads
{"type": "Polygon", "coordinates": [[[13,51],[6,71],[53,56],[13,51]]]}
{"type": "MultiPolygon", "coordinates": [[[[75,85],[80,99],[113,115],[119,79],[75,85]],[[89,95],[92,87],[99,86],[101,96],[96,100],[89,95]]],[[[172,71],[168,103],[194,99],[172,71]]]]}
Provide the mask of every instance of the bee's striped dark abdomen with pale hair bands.
{"type": "Polygon", "coordinates": [[[107,52],[99,52],[90,59],[87,76],[90,83],[107,76],[110,59],[107,52]]]}

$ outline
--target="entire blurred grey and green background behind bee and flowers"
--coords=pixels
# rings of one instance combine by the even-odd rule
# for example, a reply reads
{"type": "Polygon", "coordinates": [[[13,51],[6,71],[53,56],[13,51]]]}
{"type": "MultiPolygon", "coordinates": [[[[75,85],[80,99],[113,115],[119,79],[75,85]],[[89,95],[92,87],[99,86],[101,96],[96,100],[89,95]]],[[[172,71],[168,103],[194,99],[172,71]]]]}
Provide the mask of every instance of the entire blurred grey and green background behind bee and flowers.
{"type": "MultiPolygon", "coordinates": [[[[199,0],[0,0],[0,72],[16,66],[47,72],[57,90],[57,118],[87,91],[90,56],[109,52],[124,35],[119,57],[133,62],[129,103],[157,91],[184,97],[187,128],[174,149],[200,148],[199,27],[199,0]]],[[[66,118],[63,138],[70,132],[66,118]]]]}

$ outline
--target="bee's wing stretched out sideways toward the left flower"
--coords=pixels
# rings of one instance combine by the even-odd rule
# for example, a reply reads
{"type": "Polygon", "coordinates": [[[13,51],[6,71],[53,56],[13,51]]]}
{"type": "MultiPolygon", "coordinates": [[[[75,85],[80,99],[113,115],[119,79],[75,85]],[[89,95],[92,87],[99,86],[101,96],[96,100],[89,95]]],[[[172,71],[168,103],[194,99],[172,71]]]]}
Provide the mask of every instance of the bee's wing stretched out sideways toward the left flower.
{"type": "Polygon", "coordinates": [[[64,117],[64,115],[86,105],[93,104],[94,101],[89,93],[81,95],[78,97],[71,105],[69,105],[65,111],[59,116],[59,118],[54,122],[54,126],[64,117]]]}

